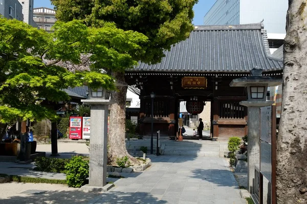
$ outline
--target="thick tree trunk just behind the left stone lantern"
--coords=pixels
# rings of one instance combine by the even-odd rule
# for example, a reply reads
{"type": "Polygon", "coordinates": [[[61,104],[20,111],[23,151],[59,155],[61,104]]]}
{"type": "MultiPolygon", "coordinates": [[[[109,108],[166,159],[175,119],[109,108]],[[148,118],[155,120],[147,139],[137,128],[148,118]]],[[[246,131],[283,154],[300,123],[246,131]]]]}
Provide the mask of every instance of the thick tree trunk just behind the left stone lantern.
{"type": "MultiPolygon", "coordinates": [[[[115,73],[114,77],[117,80],[124,82],[124,73],[115,73]]],[[[112,104],[109,115],[109,130],[108,130],[108,162],[116,164],[116,158],[127,156],[129,162],[140,164],[140,162],[130,156],[126,149],[125,142],[125,121],[126,121],[126,93],[127,87],[118,87],[118,91],[113,91],[111,99],[116,101],[112,104]]]]}

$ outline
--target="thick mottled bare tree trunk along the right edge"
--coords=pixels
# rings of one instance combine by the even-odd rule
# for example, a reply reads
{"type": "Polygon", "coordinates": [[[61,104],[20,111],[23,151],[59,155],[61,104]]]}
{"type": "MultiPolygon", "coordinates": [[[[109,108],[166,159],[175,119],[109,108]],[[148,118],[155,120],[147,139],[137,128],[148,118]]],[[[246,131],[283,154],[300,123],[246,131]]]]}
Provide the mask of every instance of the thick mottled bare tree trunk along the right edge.
{"type": "Polygon", "coordinates": [[[277,203],[307,203],[306,17],[306,0],[289,0],[277,138],[277,203]]]}

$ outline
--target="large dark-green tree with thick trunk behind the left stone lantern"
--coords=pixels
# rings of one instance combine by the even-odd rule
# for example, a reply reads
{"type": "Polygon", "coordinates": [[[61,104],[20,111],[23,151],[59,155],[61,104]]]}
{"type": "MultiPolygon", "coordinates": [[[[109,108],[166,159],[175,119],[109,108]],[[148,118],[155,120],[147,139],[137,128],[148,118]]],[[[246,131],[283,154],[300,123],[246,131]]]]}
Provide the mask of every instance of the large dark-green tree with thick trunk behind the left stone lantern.
{"type": "MultiPolygon", "coordinates": [[[[193,5],[197,0],[171,1],[105,1],[105,0],[51,0],[55,5],[56,17],[63,21],[83,20],[89,27],[101,27],[105,22],[115,22],[117,27],[133,30],[148,37],[142,44],[144,53],[131,55],[145,63],[157,63],[164,57],[163,51],[171,45],[185,40],[193,29],[193,5]]],[[[118,80],[124,80],[124,72],[109,72],[118,80]]],[[[128,156],[125,146],[125,97],[127,88],[113,92],[109,118],[108,145],[111,161],[128,156]]]]}

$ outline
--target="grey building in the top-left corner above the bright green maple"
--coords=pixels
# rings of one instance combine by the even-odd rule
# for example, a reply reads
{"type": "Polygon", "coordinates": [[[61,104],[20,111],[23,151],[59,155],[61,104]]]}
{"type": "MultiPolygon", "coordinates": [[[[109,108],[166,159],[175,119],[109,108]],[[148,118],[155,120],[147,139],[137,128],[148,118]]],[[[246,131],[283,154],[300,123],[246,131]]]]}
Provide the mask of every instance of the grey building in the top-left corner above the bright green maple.
{"type": "Polygon", "coordinates": [[[0,14],[7,19],[24,20],[23,6],[18,0],[0,0],[0,14]]]}

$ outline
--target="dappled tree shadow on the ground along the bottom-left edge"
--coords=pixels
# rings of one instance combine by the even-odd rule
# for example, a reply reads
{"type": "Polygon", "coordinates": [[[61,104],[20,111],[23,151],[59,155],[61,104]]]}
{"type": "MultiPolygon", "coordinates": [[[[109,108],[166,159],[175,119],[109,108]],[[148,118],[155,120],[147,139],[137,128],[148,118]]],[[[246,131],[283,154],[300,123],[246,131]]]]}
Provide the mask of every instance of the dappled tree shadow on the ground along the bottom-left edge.
{"type": "Polygon", "coordinates": [[[123,193],[123,192],[107,192],[107,193],[89,193],[81,190],[72,191],[39,191],[25,189],[25,193],[17,194],[6,199],[0,198],[0,203],[166,203],[159,200],[149,193],[123,193]]]}

